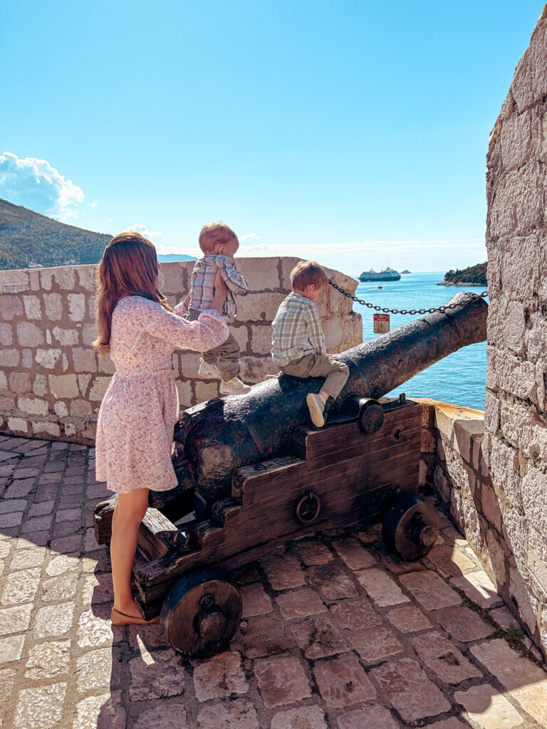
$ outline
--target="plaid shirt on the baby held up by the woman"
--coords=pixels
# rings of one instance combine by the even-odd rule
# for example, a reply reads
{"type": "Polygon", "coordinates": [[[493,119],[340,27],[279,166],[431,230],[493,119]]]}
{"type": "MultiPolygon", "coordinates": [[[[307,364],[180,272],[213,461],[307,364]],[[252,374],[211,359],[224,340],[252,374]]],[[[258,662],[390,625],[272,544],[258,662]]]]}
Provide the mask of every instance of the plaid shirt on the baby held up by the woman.
{"type": "Polygon", "coordinates": [[[210,309],[214,297],[214,277],[217,276],[217,268],[220,268],[220,276],[225,281],[230,291],[222,305],[224,316],[236,316],[236,299],[233,292],[244,294],[249,289],[249,281],[239,276],[236,271],[236,263],[228,256],[217,256],[208,254],[195,262],[192,271],[192,288],[190,291],[190,307],[195,311],[210,309]]]}

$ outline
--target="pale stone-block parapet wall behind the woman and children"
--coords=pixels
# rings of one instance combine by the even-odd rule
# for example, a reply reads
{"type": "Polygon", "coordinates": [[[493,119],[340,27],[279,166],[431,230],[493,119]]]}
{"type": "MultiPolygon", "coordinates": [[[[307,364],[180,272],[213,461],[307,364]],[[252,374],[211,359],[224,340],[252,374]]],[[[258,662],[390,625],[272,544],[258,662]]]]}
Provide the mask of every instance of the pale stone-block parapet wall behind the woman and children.
{"type": "MultiPolygon", "coordinates": [[[[260,382],[277,368],[271,361],[271,321],[290,292],[297,258],[241,258],[238,270],[249,292],[238,296],[238,320],[230,330],[241,346],[241,378],[260,382]]],[[[193,261],[161,264],[169,303],[188,290],[193,261]]],[[[93,443],[99,405],[115,367],[93,352],[95,266],[0,271],[0,432],[74,443],[93,443]]],[[[354,292],[357,281],[327,269],[354,292]]],[[[327,348],[344,351],[362,341],[360,314],[352,300],[329,286],[317,303],[327,348]]],[[[216,381],[198,378],[199,354],[173,355],[182,408],[215,397],[216,381]]]]}

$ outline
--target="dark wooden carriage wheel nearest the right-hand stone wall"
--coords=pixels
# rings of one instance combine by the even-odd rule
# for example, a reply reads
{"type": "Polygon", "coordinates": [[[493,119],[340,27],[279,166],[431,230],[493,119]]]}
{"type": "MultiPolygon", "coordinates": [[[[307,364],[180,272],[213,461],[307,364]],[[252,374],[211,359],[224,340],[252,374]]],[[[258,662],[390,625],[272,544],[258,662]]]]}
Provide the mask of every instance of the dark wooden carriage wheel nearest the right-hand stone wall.
{"type": "Polygon", "coordinates": [[[405,494],[389,508],[381,526],[387,546],[400,557],[417,559],[437,541],[441,520],[434,507],[414,494],[405,494]]]}

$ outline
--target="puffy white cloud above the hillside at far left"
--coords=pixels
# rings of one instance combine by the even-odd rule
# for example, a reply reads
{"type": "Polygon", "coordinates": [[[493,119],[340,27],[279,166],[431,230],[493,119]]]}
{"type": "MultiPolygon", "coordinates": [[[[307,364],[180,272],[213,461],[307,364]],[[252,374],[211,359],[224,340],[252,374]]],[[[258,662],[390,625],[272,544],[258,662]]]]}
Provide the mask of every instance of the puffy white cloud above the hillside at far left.
{"type": "Polygon", "coordinates": [[[84,193],[74,182],[36,157],[0,155],[0,195],[11,203],[63,222],[78,215],[84,193]]]}

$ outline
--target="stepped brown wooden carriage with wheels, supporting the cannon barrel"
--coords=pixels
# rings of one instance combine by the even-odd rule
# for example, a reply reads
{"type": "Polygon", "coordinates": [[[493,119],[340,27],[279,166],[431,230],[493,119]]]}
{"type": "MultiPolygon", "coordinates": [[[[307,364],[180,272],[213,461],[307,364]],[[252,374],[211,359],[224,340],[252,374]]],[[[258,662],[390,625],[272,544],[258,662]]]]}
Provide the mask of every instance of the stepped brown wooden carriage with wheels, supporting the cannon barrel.
{"type": "MultiPolygon", "coordinates": [[[[317,529],[383,521],[387,544],[403,558],[424,554],[439,519],[416,497],[422,405],[349,397],[321,430],[302,426],[293,453],[233,472],[231,496],[180,526],[149,508],[135,571],[144,617],[158,613],[171,645],[185,655],[215,652],[241,619],[238,590],[220,575],[317,529]],[[215,573],[210,572],[214,565],[215,573]]],[[[110,537],[109,502],[96,507],[96,537],[110,537]]]]}

